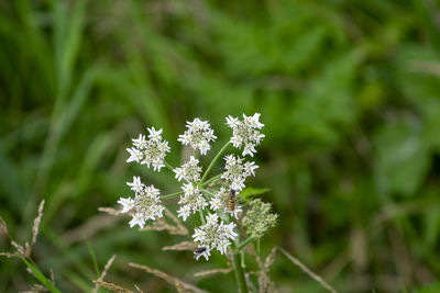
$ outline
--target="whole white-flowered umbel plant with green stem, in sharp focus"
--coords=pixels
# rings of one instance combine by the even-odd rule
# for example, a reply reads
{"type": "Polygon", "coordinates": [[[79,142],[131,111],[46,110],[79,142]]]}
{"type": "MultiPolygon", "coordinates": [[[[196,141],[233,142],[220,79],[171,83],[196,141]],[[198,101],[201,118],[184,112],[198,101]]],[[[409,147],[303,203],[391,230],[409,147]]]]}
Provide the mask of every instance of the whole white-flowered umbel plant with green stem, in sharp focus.
{"type": "Polygon", "coordinates": [[[164,167],[169,169],[174,178],[182,183],[182,191],[161,195],[157,188],[142,182],[140,177],[133,177],[133,181],[127,184],[134,195],[119,199],[119,213],[131,215],[130,227],[139,226],[141,229],[164,229],[167,225],[163,219],[164,211],[178,222],[186,222],[198,213],[200,224],[194,227],[191,237],[195,259],[204,257],[209,260],[213,251],[224,255],[232,260],[231,269],[235,271],[241,292],[248,292],[240,256],[243,255],[245,246],[260,240],[264,233],[275,225],[277,215],[271,212],[271,204],[263,204],[260,200],[243,206],[244,201],[240,195],[246,187],[245,180],[251,176],[255,177],[258,168],[254,161],[248,160],[246,156],[253,157],[256,146],[264,138],[264,134],[261,133],[264,124],[260,122],[260,114],[243,114],[242,121],[228,116],[226,124],[232,129],[232,135],[213,156],[205,171],[200,156],[207,156],[211,143],[217,139],[208,121],[195,119],[186,123],[186,131],[177,140],[183,146],[193,148],[194,155],[179,167],[174,167],[166,160],[170,148],[168,142],[162,137],[163,129],[156,131],[151,127],[147,128],[147,136],[140,134],[139,138],[132,139],[132,146],[127,148],[130,154],[127,161],[146,165],[157,172],[164,167]],[[241,156],[226,155],[230,146],[240,149],[241,156]],[[210,176],[218,161],[223,165],[221,173],[210,176]],[[177,218],[165,207],[165,202],[174,196],[179,196],[177,218]],[[243,214],[243,211],[246,213],[243,214]],[[148,225],[147,221],[152,225],[148,225]]]}

